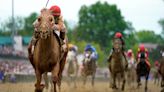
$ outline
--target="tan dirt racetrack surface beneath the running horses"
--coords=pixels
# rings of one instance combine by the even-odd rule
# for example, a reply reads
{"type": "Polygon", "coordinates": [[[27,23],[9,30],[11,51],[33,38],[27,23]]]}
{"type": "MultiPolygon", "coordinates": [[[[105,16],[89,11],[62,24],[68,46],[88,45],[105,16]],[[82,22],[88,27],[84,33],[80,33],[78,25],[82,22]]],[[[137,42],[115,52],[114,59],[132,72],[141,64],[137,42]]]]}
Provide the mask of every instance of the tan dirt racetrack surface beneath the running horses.
{"type": "MultiPolygon", "coordinates": [[[[34,83],[5,83],[0,84],[0,92],[34,92],[34,83]]],[[[47,92],[47,91],[44,91],[47,92]]],[[[48,91],[49,92],[49,91],[48,91]]],[[[108,82],[96,81],[94,87],[91,86],[90,82],[87,82],[85,86],[81,82],[77,83],[77,88],[73,85],[68,86],[66,82],[62,83],[61,92],[121,92],[120,90],[112,90],[109,88],[108,82]]],[[[124,92],[144,92],[144,84],[140,89],[125,88],[124,92]]],[[[148,84],[148,92],[160,92],[160,86],[154,85],[152,82],[148,84]]]]}

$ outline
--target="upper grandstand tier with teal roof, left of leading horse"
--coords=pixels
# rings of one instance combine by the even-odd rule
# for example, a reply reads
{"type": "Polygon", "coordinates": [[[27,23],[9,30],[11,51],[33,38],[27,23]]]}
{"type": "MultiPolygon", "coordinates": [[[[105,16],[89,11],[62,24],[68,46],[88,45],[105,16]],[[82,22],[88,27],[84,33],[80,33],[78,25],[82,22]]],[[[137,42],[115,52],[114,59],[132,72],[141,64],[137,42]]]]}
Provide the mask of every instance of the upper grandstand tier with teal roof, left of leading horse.
{"type": "Polygon", "coordinates": [[[31,37],[16,36],[13,39],[10,36],[0,36],[0,58],[27,58],[27,46],[31,37]],[[17,41],[19,44],[17,45],[17,41]],[[13,46],[13,44],[15,44],[13,46]]]}

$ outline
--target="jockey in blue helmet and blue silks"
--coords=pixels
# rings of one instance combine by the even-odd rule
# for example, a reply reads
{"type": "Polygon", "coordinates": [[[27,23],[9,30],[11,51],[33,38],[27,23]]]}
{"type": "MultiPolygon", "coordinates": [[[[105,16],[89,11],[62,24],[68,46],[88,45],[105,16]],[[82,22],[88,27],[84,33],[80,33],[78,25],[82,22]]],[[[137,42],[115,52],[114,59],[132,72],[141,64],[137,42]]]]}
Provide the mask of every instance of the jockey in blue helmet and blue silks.
{"type": "Polygon", "coordinates": [[[84,49],[84,55],[86,55],[88,52],[91,53],[91,59],[96,61],[98,59],[98,54],[96,51],[96,48],[91,46],[90,44],[87,44],[84,49]]]}

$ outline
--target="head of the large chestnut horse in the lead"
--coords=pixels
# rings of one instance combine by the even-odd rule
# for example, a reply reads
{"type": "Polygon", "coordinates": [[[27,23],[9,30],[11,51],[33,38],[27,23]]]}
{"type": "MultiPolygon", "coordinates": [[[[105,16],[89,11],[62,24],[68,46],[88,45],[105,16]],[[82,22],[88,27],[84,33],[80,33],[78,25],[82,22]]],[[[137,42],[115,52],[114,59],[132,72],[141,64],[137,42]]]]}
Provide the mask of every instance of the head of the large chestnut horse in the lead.
{"type": "Polygon", "coordinates": [[[44,8],[41,10],[41,14],[38,19],[38,31],[41,39],[47,39],[50,33],[53,31],[54,17],[50,10],[44,8]]]}

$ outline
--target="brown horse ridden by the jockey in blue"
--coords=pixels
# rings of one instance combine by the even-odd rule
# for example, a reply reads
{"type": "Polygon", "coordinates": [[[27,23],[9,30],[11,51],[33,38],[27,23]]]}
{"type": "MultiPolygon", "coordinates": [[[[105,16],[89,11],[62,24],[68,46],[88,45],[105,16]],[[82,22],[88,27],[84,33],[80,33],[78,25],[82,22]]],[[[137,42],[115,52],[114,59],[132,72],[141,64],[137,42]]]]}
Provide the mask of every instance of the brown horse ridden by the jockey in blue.
{"type": "Polygon", "coordinates": [[[84,59],[82,61],[83,68],[81,70],[81,75],[83,78],[83,85],[86,84],[86,80],[88,76],[92,77],[91,84],[94,86],[94,79],[96,74],[96,60],[91,58],[91,51],[87,51],[85,53],[84,59]]]}

